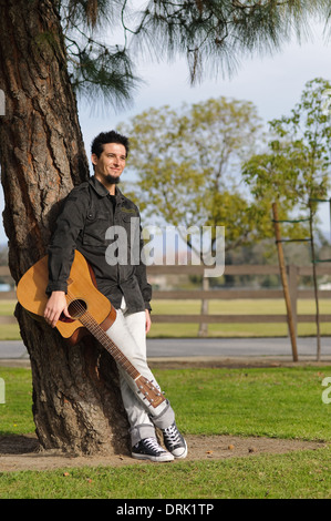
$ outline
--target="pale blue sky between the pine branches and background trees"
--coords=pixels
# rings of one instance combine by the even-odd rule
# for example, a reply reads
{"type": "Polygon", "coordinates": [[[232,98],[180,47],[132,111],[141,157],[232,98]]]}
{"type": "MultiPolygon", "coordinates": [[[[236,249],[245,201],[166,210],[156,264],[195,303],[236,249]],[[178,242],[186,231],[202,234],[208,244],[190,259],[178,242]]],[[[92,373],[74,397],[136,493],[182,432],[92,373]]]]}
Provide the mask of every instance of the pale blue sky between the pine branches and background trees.
{"type": "MultiPolygon", "coordinates": [[[[92,110],[86,102],[79,102],[79,116],[87,154],[90,155],[91,142],[99,132],[112,130],[120,122],[126,122],[144,110],[165,104],[175,109],[183,102],[198,103],[224,95],[251,101],[266,124],[275,118],[288,115],[299,102],[308,81],[316,78],[331,81],[331,39],[325,40],[321,25],[314,25],[313,32],[312,40],[301,44],[293,40],[272,57],[247,59],[231,78],[207,76],[196,86],[189,85],[185,60],[177,60],[173,64],[141,63],[138,72],[145,83],[136,92],[128,109],[121,112],[103,106],[92,110]]],[[[324,206],[320,213],[325,223],[323,227],[328,231],[330,216],[325,207],[329,205],[321,206],[324,206]]],[[[1,193],[1,213],[2,210],[1,193]]],[[[6,242],[1,223],[0,244],[6,242]]]]}

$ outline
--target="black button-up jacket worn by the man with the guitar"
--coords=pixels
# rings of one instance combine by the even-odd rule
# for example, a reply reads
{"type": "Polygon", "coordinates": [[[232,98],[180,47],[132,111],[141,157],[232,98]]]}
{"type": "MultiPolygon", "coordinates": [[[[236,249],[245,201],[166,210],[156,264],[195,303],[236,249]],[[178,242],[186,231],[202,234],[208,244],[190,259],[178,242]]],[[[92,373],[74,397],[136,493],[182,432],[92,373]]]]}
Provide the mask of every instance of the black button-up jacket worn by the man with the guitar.
{"type": "Polygon", "coordinates": [[[142,262],[137,206],[116,187],[115,196],[95,177],[65,198],[49,246],[46,293],[66,292],[75,248],[92,266],[97,288],[113,304],[124,296],[128,313],[151,309],[152,287],[142,262]]]}

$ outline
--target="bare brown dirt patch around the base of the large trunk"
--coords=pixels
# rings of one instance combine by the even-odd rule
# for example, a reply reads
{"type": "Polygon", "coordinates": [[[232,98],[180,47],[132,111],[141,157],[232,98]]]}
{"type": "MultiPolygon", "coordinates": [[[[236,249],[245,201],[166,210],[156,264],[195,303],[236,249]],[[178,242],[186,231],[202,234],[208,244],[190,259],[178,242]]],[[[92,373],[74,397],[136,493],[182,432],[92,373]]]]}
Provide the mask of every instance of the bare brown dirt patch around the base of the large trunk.
{"type": "MultiPolygon", "coordinates": [[[[325,447],[325,443],[314,441],[240,438],[235,436],[188,436],[186,439],[189,449],[186,461],[221,460],[234,457],[254,457],[260,453],[316,450],[325,447]]],[[[0,472],[54,470],[84,466],[123,467],[127,464],[154,463],[136,461],[126,454],[68,457],[55,451],[39,451],[39,442],[34,435],[0,438],[0,472]]]]}

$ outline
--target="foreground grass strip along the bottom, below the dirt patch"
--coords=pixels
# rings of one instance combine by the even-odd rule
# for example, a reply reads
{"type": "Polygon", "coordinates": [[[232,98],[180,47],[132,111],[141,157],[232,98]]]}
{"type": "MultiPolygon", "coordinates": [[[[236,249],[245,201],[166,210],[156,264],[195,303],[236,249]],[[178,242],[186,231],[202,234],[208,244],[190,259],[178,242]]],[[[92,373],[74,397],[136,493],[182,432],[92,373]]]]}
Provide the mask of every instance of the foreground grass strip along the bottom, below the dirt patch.
{"type": "Polygon", "coordinates": [[[3,473],[7,499],[327,499],[330,450],[125,468],[3,473]]]}

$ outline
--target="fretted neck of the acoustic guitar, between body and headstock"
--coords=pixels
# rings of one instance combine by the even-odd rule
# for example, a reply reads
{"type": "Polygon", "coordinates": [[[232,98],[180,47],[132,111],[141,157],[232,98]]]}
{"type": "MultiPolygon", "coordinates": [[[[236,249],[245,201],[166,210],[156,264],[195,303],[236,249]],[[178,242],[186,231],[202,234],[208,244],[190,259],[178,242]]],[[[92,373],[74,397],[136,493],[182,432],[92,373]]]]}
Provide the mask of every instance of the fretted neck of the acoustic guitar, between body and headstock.
{"type": "Polygon", "coordinates": [[[107,334],[100,327],[97,321],[89,314],[84,314],[80,317],[80,321],[83,326],[96,338],[96,340],[112,355],[115,361],[131,376],[133,380],[136,380],[141,374],[131,364],[126,356],[118,349],[118,347],[111,340],[107,334]]]}

